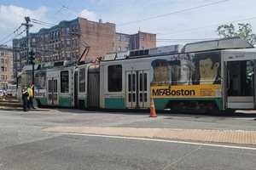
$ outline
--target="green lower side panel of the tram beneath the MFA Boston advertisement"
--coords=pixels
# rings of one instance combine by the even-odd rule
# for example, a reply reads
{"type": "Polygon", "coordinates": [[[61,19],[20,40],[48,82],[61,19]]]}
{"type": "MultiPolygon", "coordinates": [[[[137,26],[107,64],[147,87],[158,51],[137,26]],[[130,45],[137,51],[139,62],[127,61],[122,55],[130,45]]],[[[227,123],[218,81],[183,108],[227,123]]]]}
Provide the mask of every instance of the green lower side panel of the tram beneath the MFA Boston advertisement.
{"type": "Polygon", "coordinates": [[[162,98],[162,99],[154,99],[154,106],[156,110],[164,110],[166,108],[166,105],[168,104],[169,101],[198,101],[198,102],[202,102],[202,101],[212,101],[214,102],[217,106],[219,110],[223,110],[223,105],[222,105],[222,98],[207,98],[207,99],[203,99],[203,98],[199,98],[199,99],[170,99],[170,98],[162,98]]]}

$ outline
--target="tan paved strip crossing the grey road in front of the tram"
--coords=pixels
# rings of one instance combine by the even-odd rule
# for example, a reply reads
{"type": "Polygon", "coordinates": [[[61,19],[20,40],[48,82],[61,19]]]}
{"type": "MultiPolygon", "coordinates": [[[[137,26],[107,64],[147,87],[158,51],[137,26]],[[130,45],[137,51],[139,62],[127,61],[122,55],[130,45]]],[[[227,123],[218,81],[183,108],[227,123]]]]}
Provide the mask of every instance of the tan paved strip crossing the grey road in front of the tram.
{"type": "Polygon", "coordinates": [[[191,140],[226,144],[256,144],[256,131],[134,127],[48,127],[52,133],[86,133],[125,137],[191,140]]]}

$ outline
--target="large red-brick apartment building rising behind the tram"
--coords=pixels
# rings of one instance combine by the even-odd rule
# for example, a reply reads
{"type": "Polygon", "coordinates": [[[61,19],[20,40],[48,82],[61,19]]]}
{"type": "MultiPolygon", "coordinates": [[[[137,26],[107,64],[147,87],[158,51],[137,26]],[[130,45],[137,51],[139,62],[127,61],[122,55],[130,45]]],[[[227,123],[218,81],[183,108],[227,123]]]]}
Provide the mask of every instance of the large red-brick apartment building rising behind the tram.
{"type": "MultiPolygon", "coordinates": [[[[61,21],[59,25],[49,29],[41,29],[30,34],[31,47],[36,53],[38,63],[71,60],[76,61],[90,47],[85,61],[93,61],[97,57],[116,51],[126,51],[136,48],[154,48],[155,34],[139,31],[128,35],[116,33],[113,23],[103,23],[77,18],[61,21]]],[[[14,72],[15,77],[26,65],[26,37],[14,39],[14,72]]]]}

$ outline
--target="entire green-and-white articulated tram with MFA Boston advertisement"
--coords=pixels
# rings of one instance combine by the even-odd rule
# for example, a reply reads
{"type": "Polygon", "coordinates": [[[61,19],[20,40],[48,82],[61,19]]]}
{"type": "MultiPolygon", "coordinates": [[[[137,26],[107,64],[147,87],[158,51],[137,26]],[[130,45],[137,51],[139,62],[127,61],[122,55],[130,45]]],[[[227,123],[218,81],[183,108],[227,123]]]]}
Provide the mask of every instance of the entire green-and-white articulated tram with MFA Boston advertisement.
{"type": "Polygon", "coordinates": [[[46,91],[36,99],[79,109],[148,109],[151,99],[157,110],[255,109],[255,65],[256,49],[240,38],[107,54],[99,64],[41,68],[46,91]]]}

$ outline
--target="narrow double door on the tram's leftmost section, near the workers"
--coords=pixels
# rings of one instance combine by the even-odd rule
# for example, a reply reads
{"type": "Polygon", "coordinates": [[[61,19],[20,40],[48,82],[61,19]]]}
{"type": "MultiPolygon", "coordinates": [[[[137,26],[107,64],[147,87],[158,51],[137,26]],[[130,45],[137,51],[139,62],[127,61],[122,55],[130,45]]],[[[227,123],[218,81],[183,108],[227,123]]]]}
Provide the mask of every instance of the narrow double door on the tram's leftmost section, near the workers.
{"type": "Polygon", "coordinates": [[[55,77],[48,78],[48,105],[58,105],[58,80],[55,77]]]}

